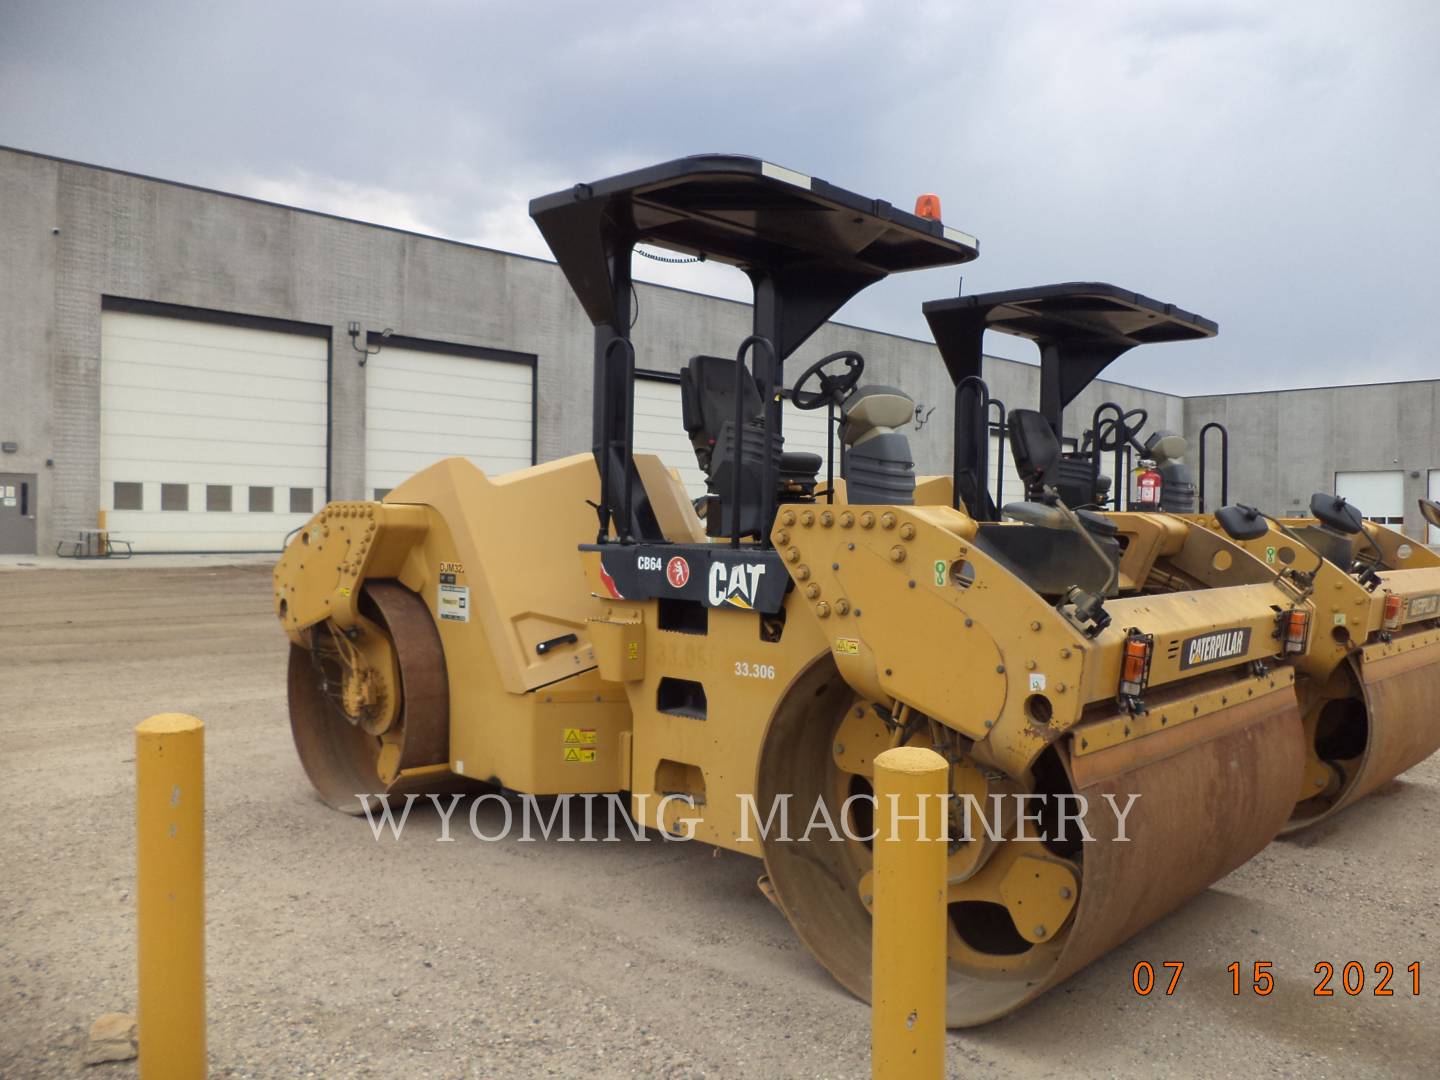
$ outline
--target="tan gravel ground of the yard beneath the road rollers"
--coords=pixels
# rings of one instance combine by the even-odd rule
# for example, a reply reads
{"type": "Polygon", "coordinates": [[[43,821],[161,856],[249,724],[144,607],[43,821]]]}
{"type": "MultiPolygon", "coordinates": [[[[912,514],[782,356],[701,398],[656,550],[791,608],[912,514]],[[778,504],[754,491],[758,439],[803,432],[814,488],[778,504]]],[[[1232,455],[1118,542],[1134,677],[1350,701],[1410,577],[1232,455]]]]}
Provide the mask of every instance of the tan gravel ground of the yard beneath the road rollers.
{"type": "MultiPolygon", "coordinates": [[[[419,808],[376,842],[310,793],[284,668],[265,566],[0,575],[0,1076],[135,1074],[81,1061],[89,1022],[135,1005],[131,732],[173,710],[207,726],[215,1076],[868,1076],[865,1007],[760,896],[757,863],[464,827],[436,844],[419,808]]],[[[1437,827],[1431,759],[1020,1015],[952,1032],[950,1074],[1436,1076],[1437,827]],[[1174,996],[1132,991],[1142,959],[1185,962],[1174,996]],[[1270,960],[1274,992],[1233,996],[1231,960],[1270,960]],[[1390,960],[1395,995],[1371,973],[1362,996],[1315,998],[1318,960],[1390,960]]]]}

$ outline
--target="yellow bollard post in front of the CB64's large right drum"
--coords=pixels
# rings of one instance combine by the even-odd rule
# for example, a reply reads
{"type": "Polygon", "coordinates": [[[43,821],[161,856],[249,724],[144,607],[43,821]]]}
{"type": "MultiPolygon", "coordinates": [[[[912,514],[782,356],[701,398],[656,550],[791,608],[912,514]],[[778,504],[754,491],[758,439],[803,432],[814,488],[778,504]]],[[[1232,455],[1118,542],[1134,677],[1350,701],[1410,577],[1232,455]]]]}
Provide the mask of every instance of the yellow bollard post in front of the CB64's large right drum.
{"type": "Polygon", "coordinates": [[[899,746],[876,757],[870,1067],[876,1080],[945,1076],[949,766],[899,746]]]}

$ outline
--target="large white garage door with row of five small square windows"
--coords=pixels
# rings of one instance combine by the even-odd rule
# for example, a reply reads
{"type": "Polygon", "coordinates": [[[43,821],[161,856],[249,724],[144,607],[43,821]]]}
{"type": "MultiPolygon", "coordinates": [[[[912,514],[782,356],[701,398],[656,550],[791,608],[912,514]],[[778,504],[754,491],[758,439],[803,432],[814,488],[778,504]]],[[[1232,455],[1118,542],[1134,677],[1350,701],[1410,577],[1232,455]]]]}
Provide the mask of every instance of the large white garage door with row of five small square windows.
{"type": "Polygon", "coordinates": [[[330,343],[101,312],[101,507],[137,552],[279,550],[325,500],[330,343]]]}

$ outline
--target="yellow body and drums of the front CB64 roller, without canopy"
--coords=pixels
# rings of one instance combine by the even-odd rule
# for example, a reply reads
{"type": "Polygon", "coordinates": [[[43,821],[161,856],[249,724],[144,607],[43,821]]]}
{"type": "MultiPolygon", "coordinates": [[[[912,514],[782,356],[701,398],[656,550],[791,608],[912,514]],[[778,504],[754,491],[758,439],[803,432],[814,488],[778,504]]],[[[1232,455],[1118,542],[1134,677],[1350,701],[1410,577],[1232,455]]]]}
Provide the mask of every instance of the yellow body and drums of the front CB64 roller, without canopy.
{"type": "MultiPolygon", "coordinates": [[[[700,540],[678,480],[658,459],[636,464],[667,534],[700,540]]],[[[827,888],[851,884],[816,891],[796,845],[766,831],[776,792],[796,796],[793,829],[812,824],[806,792],[841,818],[874,755],[919,744],[953,763],[956,793],[1086,795],[1097,837],[1115,829],[1104,795],[1142,795],[1132,842],[1084,860],[1014,819],[1008,840],[952,854],[952,907],[1012,924],[998,942],[950,935],[952,1024],[1043,992],[1253,855],[1290,814],[1303,755],[1276,619],[1296,600],[1224,537],[1122,516],[1120,595],[1090,634],[986,554],[978,524],[942,501],[948,485],[920,485],[929,505],[783,505],[782,611],[740,599],[677,626],[661,600],[606,586],[602,553],[634,549],[577,550],[595,534],[595,484],[590,455],[498,480],[448,459],[384,503],[330,504],[295,536],[275,609],[292,642],[297,746],[334,805],[356,812],[356,792],[454,776],[534,795],[628,791],[641,824],[763,858],[766,893],[864,995],[868,850],[819,845],[841,860],[827,888]],[[1117,698],[1132,628],[1152,641],[1139,708],[1117,698]],[[1182,645],[1215,634],[1244,647],[1187,667],[1182,645]],[[426,688],[433,671],[444,683],[426,688]],[[442,732],[426,733],[441,714],[442,732]],[[1231,780],[1215,812],[1234,821],[1176,861],[1201,788],[1231,780]],[[1164,888],[1146,884],[1156,874],[1164,888]],[[1145,899],[1122,914],[1106,893],[1145,899]]]]}

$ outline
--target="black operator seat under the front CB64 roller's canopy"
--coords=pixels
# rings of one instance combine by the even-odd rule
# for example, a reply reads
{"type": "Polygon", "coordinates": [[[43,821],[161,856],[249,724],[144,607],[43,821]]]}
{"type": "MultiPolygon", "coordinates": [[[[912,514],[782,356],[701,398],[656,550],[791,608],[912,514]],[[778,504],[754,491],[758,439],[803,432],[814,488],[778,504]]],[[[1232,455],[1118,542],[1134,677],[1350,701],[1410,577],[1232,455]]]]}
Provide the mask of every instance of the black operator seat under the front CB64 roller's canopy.
{"type": "MultiPolygon", "coordinates": [[[[730,500],[734,488],[732,462],[740,454],[740,536],[769,530],[763,521],[769,495],[765,491],[765,403],[755,379],[740,380],[743,425],[736,436],[736,360],[723,356],[694,356],[680,372],[680,412],[694,446],[696,461],[706,474],[706,526],[710,536],[727,536],[730,500]]],[[[776,436],[772,464],[783,500],[805,503],[815,497],[815,478],[822,459],[818,454],[785,454],[776,436]]]]}

